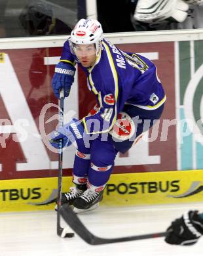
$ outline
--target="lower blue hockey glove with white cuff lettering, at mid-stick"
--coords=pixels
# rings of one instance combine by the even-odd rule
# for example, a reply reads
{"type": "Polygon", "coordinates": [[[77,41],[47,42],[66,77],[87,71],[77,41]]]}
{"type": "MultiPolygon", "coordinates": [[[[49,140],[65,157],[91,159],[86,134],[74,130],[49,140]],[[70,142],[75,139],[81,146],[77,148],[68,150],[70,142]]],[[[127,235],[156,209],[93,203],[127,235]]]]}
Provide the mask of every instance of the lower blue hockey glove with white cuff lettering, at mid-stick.
{"type": "Polygon", "coordinates": [[[83,143],[84,127],[81,121],[73,118],[69,123],[66,123],[64,127],[60,127],[57,131],[50,133],[50,144],[54,148],[59,148],[60,139],[62,139],[62,147],[71,146],[73,142],[83,143]]]}

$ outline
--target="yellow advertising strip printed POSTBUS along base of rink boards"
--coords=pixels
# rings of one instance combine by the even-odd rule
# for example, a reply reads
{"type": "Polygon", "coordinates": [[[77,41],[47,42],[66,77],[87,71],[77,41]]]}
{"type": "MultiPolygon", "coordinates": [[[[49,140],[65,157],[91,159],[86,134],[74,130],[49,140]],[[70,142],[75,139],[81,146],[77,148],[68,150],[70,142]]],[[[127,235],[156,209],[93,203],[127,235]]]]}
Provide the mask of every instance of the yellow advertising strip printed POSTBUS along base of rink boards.
{"type": "MultiPolygon", "coordinates": [[[[105,188],[103,205],[132,206],[170,203],[202,203],[203,172],[168,171],[112,175],[105,188]]],[[[63,191],[72,186],[64,177],[63,191]]],[[[57,178],[0,181],[0,211],[54,209],[57,178]]]]}

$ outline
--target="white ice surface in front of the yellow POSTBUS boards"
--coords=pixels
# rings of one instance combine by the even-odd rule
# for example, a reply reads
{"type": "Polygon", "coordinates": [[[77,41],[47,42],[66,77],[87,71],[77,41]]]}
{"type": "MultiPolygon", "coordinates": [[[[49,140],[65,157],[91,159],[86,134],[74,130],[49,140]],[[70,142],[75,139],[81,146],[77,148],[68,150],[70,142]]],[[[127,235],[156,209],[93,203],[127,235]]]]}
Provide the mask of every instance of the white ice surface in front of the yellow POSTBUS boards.
{"type": "MultiPolygon", "coordinates": [[[[80,214],[85,226],[102,238],[163,232],[170,222],[189,209],[203,211],[203,204],[154,207],[104,207],[80,214]]],[[[65,226],[62,221],[62,226],[65,226]]],[[[70,230],[71,232],[71,230],[70,230]]],[[[152,238],[107,245],[88,245],[56,235],[56,212],[37,211],[0,214],[0,256],[202,256],[203,239],[182,247],[152,238]]]]}

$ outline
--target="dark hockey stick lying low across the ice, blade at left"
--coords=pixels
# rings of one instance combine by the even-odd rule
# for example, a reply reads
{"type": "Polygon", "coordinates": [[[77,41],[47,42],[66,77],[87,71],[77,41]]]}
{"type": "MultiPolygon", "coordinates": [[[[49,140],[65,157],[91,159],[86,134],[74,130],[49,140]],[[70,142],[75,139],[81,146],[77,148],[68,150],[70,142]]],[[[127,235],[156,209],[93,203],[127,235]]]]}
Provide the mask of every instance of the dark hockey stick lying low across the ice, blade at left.
{"type": "Polygon", "coordinates": [[[86,243],[91,245],[99,245],[99,244],[111,244],[118,242],[127,242],[148,238],[160,238],[166,236],[166,232],[154,233],[154,234],[143,234],[138,236],[126,236],[122,238],[100,238],[98,236],[94,236],[80,221],[77,215],[73,212],[71,207],[68,204],[65,204],[61,207],[60,213],[64,218],[65,222],[77,233],[86,243]]]}

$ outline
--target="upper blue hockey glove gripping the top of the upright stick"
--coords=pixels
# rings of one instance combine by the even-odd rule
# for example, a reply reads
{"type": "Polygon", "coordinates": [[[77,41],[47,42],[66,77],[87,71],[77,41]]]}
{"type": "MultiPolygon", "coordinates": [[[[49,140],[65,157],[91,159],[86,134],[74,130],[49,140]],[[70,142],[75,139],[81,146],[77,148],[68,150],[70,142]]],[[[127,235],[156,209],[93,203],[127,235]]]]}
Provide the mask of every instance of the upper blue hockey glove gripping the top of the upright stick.
{"type": "Polygon", "coordinates": [[[71,64],[59,62],[55,66],[55,73],[52,78],[52,88],[57,98],[60,98],[60,91],[64,89],[64,96],[67,97],[71,91],[74,81],[75,67],[71,64]]]}

